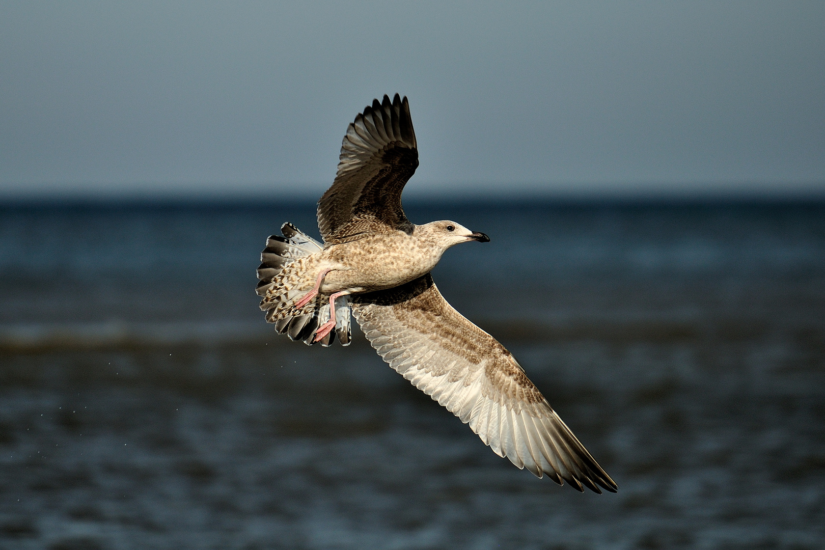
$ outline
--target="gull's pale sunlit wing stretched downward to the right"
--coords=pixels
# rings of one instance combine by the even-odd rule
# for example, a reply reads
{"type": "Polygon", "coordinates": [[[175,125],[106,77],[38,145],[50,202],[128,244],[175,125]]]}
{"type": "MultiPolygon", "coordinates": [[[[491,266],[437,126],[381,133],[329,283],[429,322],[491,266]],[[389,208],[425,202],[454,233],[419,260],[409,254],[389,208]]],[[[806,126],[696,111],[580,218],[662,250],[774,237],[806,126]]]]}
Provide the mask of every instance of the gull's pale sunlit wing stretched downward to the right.
{"type": "Polygon", "coordinates": [[[578,491],[616,491],[510,352],[450,306],[431,275],[353,297],[352,310],[384,361],[496,454],[578,491]]]}

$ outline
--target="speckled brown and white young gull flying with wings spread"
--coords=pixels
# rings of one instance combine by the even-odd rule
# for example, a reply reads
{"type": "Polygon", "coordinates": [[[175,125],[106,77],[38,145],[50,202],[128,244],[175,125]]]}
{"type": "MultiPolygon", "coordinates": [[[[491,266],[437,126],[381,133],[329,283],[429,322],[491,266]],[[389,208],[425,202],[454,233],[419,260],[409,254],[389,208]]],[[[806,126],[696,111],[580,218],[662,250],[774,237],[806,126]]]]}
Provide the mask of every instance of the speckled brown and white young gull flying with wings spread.
{"type": "Polygon", "coordinates": [[[293,341],[351,342],[351,317],[398,374],[501,457],[559,485],[617,486],[493,336],[455,310],[430,271],[484,233],[441,220],[416,225],[401,192],[418,166],[407,97],[377,99],[347,128],[332,186],[318,201],[323,243],[291,223],[266,241],[257,294],[266,321],[293,341]]]}

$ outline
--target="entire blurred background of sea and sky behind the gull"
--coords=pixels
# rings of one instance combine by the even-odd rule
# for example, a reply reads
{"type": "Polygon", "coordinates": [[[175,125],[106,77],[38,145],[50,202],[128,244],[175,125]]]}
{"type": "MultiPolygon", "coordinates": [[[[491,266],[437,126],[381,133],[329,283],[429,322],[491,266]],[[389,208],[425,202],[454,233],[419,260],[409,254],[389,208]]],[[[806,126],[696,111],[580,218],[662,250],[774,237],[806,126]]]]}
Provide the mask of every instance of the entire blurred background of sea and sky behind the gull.
{"type": "Polygon", "coordinates": [[[825,548],[825,2],[0,2],[0,550],[825,548]],[[619,484],[276,335],[347,125],[619,484]]]}

